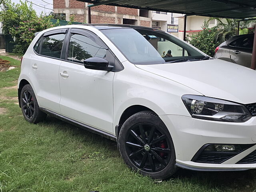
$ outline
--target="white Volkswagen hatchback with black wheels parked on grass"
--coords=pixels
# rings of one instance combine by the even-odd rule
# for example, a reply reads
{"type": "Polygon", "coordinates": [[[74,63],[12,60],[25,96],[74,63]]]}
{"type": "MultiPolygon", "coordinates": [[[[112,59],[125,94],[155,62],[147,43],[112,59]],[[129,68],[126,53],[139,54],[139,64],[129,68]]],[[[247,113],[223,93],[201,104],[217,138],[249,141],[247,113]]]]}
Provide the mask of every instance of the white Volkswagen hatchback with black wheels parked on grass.
{"type": "Polygon", "coordinates": [[[256,168],[256,72],[154,28],[69,25],[39,32],[23,56],[24,118],[46,114],[116,140],[152,178],[178,167],[256,168]]]}

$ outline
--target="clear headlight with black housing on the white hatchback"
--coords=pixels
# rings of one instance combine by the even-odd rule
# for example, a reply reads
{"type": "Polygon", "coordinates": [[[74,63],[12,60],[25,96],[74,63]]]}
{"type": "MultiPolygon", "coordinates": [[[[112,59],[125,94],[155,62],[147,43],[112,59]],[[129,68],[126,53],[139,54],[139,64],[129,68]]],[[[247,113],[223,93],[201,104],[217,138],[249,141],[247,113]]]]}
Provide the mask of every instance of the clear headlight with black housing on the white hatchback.
{"type": "Polygon", "coordinates": [[[197,95],[183,95],[182,100],[194,118],[245,122],[252,116],[244,105],[197,95]]]}

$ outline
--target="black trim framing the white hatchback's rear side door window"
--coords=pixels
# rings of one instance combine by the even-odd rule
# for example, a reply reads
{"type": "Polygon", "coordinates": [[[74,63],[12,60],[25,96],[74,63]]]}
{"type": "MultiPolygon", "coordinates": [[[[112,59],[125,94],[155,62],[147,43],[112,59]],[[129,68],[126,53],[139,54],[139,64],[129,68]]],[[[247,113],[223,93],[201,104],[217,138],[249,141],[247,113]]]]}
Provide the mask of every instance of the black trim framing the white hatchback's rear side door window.
{"type": "MultiPolygon", "coordinates": [[[[63,48],[64,48],[64,42],[65,42],[65,39],[66,39],[66,36],[67,36],[67,31],[68,31],[68,28],[56,29],[56,30],[51,30],[51,31],[45,32],[44,34],[42,34],[42,35],[38,38],[38,40],[36,41],[36,43],[38,43],[38,41],[39,41],[42,37],[51,36],[51,35],[55,35],[55,34],[65,34],[65,37],[64,37],[64,40],[63,40],[63,44],[62,44],[62,50],[63,50],[63,48]]],[[[62,50],[61,50],[60,58],[51,57],[51,56],[47,56],[47,55],[42,55],[42,54],[41,54],[42,43],[41,43],[40,46],[38,47],[38,48],[40,49],[40,52],[39,52],[39,53],[37,53],[36,50],[34,49],[36,43],[35,43],[34,46],[33,46],[33,51],[34,51],[34,53],[37,54],[38,56],[43,56],[43,57],[52,58],[52,59],[57,59],[57,60],[63,60],[63,59],[62,59],[62,50]]]]}

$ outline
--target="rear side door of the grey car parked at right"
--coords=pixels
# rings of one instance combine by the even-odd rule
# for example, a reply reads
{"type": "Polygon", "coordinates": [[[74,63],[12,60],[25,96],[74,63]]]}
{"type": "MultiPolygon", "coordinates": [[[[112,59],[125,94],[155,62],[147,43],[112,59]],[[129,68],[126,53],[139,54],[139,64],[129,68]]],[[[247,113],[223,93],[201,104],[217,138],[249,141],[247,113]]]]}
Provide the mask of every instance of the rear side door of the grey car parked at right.
{"type": "Polygon", "coordinates": [[[253,36],[239,38],[230,44],[230,60],[236,64],[249,67],[252,61],[253,36]]]}

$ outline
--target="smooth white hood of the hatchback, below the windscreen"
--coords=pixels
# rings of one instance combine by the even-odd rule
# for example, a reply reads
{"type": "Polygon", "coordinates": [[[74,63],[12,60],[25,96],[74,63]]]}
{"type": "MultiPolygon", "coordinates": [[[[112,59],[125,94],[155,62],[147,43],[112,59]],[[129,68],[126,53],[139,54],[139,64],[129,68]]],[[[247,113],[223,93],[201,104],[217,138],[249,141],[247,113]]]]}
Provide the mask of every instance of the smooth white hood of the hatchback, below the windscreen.
{"type": "Polygon", "coordinates": [[[188,86],[204,96],[256,102],[256,71],[219,59],[136,67],[188,86]]]}

